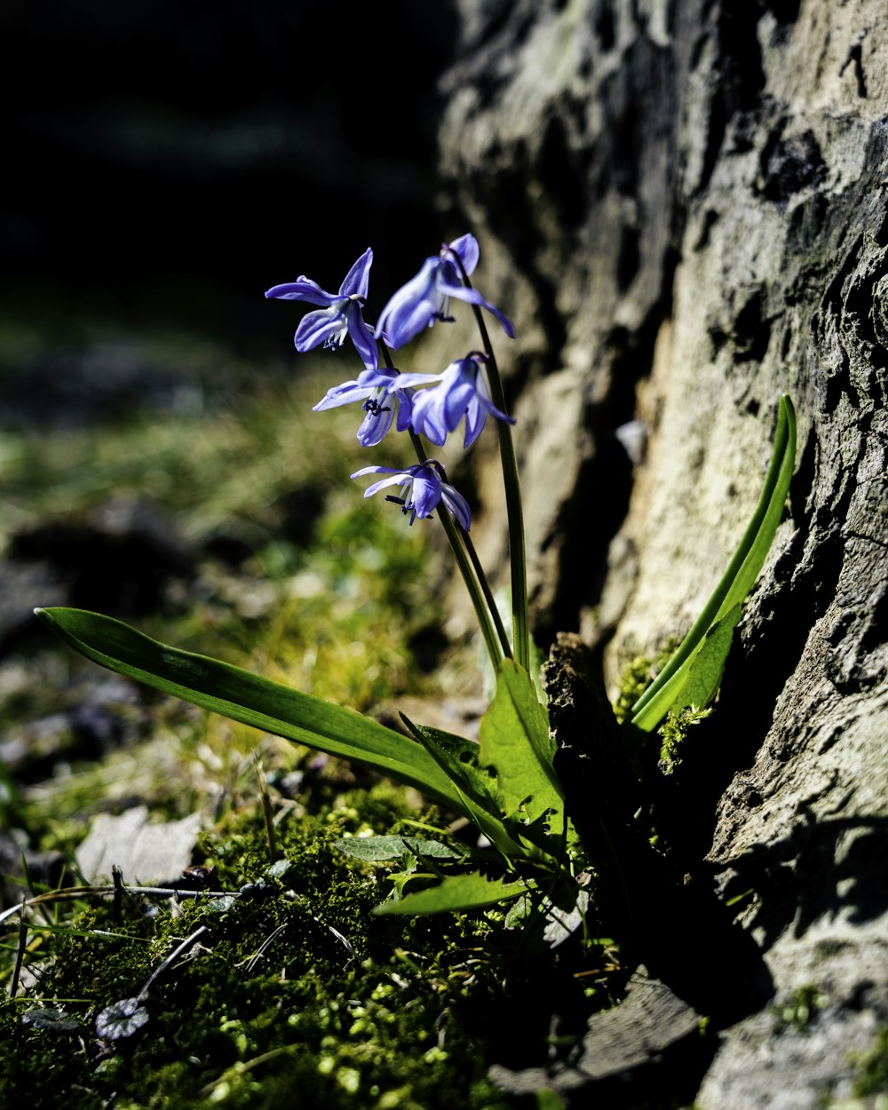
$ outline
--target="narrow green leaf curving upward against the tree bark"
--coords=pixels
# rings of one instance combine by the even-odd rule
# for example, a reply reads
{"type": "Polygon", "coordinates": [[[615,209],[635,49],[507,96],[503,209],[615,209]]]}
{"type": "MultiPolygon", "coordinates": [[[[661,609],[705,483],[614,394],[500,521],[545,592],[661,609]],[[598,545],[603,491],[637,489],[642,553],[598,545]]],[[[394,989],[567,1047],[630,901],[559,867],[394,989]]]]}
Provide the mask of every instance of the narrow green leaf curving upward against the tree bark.
{"type": "MultiPolygon", "coordinates": [[[[656,728],[679,696],[683,698],[682,705],[690,704],[685,698],[685,688],[699,686],[699,688],[710,690],[709,700],[715,697],[725,659],[730,648],[731,637],[727,635],[728,625],[733,632],[737,622],[734,620],[731,624],[728,619],[720,630],[716,630],[716,626],[728,618],[735,608],[743,605],[747,594],[755,585],[758,572],[761,569],[774,541],[777,525],[780,523],[786,497],[789,493],[789,483],[793,480],[795,462],[796,414],[791,400],[784,395],[780,397],[777,413],[774,453],[753,517],[728,563],[727,569],[694,627],[656,680],[633,706],[633,724],[638,728],[646,731],[656,728]],[[713,637],[709,640],[708,650],[699,660],[703,672],[699,678],[692,677],[690,672],[697,665],[697,656],[702,654],[706,637],[710,632],[713,637]]],[[[739,619],[739,613],[737,619],[739,619]]],[[[706,703],[695,702],[694,704],[703,708],[706,703]]]]}

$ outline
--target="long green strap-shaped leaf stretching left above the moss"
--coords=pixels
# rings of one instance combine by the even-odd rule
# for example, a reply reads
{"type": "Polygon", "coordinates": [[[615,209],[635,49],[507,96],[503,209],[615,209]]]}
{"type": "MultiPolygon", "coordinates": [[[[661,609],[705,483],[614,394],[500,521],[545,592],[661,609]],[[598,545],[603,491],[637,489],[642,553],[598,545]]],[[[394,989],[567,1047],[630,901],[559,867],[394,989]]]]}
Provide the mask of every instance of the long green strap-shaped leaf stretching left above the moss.
{"type": "Polygon", "coordinates": [[[422,745],[384,725],[241,667],[169,647],[121,620],[84,609],[37,609],[94,663],[287,740],[354,759],[467,817],[461,795],[422,745]]]}

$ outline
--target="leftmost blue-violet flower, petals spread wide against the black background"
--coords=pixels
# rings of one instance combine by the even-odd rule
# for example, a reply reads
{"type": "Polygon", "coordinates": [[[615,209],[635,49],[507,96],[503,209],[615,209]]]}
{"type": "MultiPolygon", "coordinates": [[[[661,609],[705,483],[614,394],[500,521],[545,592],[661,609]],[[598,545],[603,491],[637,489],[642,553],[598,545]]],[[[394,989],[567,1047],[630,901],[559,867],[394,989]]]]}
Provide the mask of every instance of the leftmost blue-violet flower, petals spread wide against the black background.
{"type": "Polygon", "coordinates": [[[372,263],[373,251],[367,249],[345,275],[336,294],[325,292],[317,282],[304,275],[283,285],[273,285],[265,293],[265,296],[282,301],[307,301],[321,306],[320,311],[309,312],[302,317],[296,329],[296,351],[311,351],[321,344],[325,347],[342,346],[347,334],[366,369],[376,369],[376,342],[362,315],[372,263]]]}

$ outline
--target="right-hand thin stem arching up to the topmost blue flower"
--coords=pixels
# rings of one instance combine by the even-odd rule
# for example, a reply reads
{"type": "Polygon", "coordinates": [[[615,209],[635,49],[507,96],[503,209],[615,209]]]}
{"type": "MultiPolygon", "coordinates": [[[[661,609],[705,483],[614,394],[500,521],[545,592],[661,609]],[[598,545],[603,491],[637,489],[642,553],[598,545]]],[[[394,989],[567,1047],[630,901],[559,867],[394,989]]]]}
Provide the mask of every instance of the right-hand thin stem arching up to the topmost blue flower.
{"type": "MultiPolygon", "coordinates": [[[[472,289],[472,282],[465,272],[462,259],[453,251],[453,260],[460,270],[463,284],[472,289]]],[[[491,401],[500,412],[507,413],[506,397],[496,355],[493,353],[487,325],[481,313],[481,306],[472,305],[475,322],[481,332],[481,342],[487,356],[487,382],[491,386],[491,401]]],[[[521,504],[521,485],[518,483],[518,463],[515,457],[515,446],[512,442],[512,427],[505,421],[496,421],[500,434],[500,458],[503,464],[503,485],[506,493],[506,515],[508,517],[508,555],[512,571],[512,629],[515,643],[515,657],[529,674],[531,670],[531,623],[527,616],[527,556],[524,549],[524,511],[521,504]]]]}

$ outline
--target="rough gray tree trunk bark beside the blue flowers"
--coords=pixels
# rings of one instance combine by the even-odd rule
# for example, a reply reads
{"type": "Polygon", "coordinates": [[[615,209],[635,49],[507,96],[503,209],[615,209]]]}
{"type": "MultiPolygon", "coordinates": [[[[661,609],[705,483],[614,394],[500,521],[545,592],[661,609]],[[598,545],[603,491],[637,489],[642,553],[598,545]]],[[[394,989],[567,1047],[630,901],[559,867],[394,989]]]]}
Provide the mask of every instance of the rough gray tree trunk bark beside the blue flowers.
{"type": "Polygon", "coordinates": [[[790,512],[675,789],[716,889],[755,891],[776,1002],[823,1002],[806,1032],[767,1010],[728,1029],[697,1104],[814,1108],[888,1021],[888,9],[461,8],[442,168],[518,324],[500,349],[541,636],[579,628],[613,686],[683,634],[796,403],[790,512]]]}

